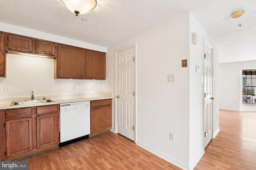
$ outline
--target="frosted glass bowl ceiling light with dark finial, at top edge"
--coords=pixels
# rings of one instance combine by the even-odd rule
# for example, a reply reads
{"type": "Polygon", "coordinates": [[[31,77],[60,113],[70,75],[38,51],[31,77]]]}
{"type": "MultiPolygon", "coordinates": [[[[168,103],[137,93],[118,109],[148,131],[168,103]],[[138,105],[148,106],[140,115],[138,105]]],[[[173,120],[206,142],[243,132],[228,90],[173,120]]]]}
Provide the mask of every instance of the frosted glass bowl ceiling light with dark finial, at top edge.
{"type": "Polygon", "coordinates": [[[96,0],[61,0],[68,10],[74,12],[76,16],[84,15],[96,7],[96,0]]]}

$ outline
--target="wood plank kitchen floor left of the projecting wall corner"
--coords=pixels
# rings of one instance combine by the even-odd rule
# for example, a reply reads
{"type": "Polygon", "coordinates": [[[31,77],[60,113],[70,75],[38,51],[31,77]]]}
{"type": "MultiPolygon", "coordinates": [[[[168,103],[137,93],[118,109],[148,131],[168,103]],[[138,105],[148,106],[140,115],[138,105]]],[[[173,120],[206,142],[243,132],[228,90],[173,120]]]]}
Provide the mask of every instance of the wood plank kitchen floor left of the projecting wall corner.
{"type": "Polygon", "coordinates": [[[110,131],[23,160],[28,170],[180,170],[110,131]]]}

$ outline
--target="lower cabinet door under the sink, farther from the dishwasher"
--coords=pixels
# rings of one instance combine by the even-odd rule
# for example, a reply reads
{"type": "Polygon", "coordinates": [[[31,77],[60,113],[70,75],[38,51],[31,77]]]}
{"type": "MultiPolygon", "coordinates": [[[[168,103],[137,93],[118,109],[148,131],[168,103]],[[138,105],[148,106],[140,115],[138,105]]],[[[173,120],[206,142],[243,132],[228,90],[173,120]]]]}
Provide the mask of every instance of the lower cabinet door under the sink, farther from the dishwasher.
{"type": "Polygon", "coordinates": [[[6,157],[32,150],[32,117],[6,121],[6,157]]]}

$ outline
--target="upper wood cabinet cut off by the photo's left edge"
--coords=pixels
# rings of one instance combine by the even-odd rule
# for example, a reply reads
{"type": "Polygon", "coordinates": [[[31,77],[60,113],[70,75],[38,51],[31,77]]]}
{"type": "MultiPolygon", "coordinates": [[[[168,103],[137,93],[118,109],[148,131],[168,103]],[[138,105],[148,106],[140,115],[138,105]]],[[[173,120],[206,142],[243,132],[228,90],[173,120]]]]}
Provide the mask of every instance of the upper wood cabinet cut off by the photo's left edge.
{"type": "Polygon", "coordinates": [[[6,77],[5,33],[0,32],[0,77],[6,77]]]}

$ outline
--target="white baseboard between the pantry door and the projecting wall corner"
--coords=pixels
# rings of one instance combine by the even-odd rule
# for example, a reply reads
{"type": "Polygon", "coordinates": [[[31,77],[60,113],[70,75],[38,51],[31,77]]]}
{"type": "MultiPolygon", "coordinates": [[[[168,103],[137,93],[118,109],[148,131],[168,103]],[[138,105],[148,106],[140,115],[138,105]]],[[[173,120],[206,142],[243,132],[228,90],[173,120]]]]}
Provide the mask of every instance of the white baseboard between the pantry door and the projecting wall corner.
{"type": "Polygon", "coordinates": [[[143,143],[140,143],[140,141],[136,141],[136,145],[142,147],[143,149],[148,150],[149,152],[151,152],[152,154],[155,154],[156,156],[166,160],[167,162],[170,162],[171,164],[174,164],[175,166],[178,166],[179,168],[182,168],[183,170],[189,170],[189,167],[177,160],[174,160],[172,158],[168,158],[167,155],[159,153],[158,151],[151,149],[150,147],[148,147],[147,145],[144,145],[143,143]]]}

